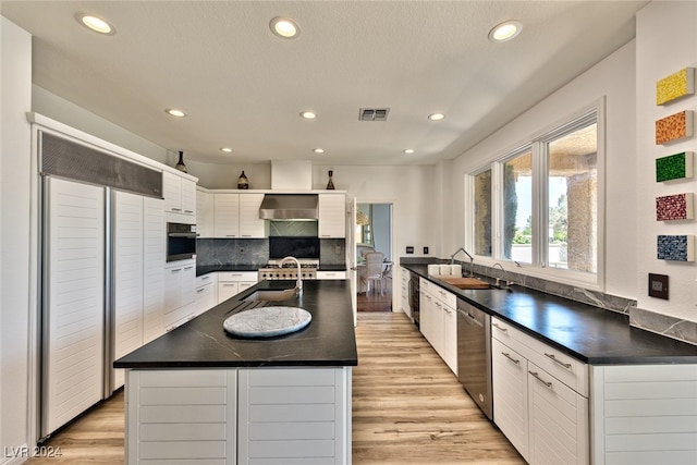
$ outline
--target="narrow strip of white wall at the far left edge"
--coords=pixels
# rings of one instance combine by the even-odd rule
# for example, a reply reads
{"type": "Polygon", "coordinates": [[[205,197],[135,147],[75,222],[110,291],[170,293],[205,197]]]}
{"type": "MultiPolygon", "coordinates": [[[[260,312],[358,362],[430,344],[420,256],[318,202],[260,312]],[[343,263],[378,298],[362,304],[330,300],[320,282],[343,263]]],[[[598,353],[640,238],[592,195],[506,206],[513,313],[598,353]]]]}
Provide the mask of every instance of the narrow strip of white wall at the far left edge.
{"type": "MultiPolygon", "coordinates": [[[[0,17],[0,445],[28,444],[32,37],[0,17]]],[[[16,449],[15,449],[16,450],[16,449]]],[[[11,463],[11,457],[0,463],[11,463]]],[[[11,454],[10,454],[11,455],[11,454]]],[[[16,462],[16,461],[15,461],[16,462]]]]}

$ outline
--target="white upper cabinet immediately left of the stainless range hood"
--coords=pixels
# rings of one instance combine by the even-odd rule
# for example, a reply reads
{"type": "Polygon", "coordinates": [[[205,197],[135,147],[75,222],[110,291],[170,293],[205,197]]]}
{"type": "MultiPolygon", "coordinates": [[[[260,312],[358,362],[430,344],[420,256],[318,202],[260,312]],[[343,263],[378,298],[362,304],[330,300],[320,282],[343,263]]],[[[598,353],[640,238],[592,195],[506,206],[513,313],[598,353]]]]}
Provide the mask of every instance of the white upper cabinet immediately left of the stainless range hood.
{"type": "Polygon", "coordinates": [[[266,237],[266,221],[259,219],[261,200],[264,194],[213,194],[215,237],[266,237]]]}

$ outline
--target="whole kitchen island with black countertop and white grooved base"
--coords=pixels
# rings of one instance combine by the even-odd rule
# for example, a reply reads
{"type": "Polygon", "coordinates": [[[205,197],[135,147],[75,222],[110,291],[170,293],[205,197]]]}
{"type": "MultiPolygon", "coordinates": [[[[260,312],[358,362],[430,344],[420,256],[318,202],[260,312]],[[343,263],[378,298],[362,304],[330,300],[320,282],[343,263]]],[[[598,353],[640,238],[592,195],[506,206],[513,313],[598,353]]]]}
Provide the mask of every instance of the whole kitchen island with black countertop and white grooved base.
{"type": "Polygon", "coordinates": [[[255,298],[294,285],[262,281],[114,363],[126,369],[127,464],[351,463],[350,283],[255,298]],[[302,307],[311,321],[270,339],[224,332],[229,316],[259,306],[302,307]]]}

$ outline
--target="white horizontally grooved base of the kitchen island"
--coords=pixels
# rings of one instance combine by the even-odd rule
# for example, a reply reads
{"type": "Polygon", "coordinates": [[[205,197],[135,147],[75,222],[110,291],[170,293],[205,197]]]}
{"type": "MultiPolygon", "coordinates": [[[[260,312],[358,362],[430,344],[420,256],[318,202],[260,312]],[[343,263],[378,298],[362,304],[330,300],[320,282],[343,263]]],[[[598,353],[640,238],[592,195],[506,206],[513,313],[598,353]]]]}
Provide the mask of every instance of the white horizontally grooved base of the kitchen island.
{"type": "Polygon", "coordinates": [[[129,370],[126,464],[351,463],[351,367],[129,370]]]}

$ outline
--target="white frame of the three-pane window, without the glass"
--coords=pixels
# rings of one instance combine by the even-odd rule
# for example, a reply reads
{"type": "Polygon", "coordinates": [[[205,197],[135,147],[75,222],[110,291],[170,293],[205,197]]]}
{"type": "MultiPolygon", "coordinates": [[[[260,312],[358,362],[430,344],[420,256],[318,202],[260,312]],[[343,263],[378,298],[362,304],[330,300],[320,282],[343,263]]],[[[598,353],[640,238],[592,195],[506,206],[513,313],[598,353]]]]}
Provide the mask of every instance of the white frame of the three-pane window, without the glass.
{"type": "MultiPolygon", "coordinates": [[[[478,170],[466,175],[465,195],[468,196],[467,205],[473,210],[474,207],[474,176],[491,169],[492,179],[492,256],[475,255],[475,262],[486,266],[492,266],[494,262],[501,262],[506,269],[515,271],[519,274],[541,278],[548,281],[560,282],[568,285],[577,285],[585,289],[604,290],[604,199],[606,199],[606,101],[604,97],[592,103],[577,110],[567,115],[561,122],[549,125],[537,134],[530,136],[524,144],[518,144],[514,149],[506,150],[494,157],[489,164],[480,167],[478,170]],[[547,185],[547,144],[565,134],[570,134],[580,127],[588,125],[594,120],[598,127],[598,151],[597,151],[597,170],[598,170],[598,205],[597,205],[597,270],[596,273],[588,273],[562,268],[549,268],[548,262],[548,185],[547,185]],[[533,154],[533,262],[521,264],[503,258],[503,164],[522,155],[526,150],[533,154]]],[[[465,212],[466,227],[465,244],[467,249],[474,252],[475,229],[474,213],[465,212]]],[[[474,254],[473,254],[474,255],[474,254]]]]}

